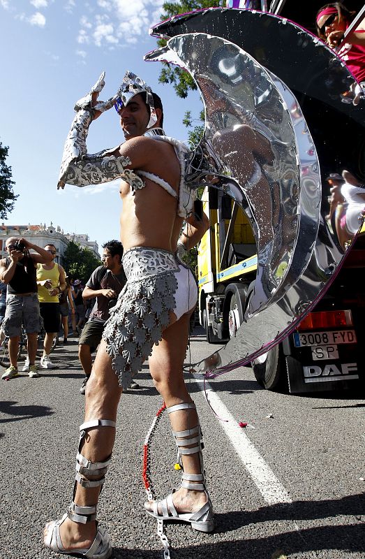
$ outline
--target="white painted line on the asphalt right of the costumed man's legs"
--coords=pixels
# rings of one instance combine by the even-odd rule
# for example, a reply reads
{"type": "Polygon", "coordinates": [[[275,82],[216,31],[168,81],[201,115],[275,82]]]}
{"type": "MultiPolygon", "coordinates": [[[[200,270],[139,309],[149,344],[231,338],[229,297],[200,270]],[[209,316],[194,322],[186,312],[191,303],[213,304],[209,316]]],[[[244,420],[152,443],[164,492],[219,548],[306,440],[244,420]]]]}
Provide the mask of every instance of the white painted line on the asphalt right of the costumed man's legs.
{"type": "MultiPolygon", "coordinates": [[[[193,375],[193,377],[195,378],[195,382],[200,386],[200,390],[204,391],[204,379],[202,379],[202,376],[193,375]]],[[[264,458],[262,458],[260,453],[255,449],[244,432],[244,429],[239,427],[237,420],[230,414],[228,408],[211,388],[209,382],[205,383],[205,389],[210,405],[218,417],[221,419],[228,419],[228,421],[219,421],[219,424],[221,428],[225,430],[226,435],[230,439],[235,451],[244,463],[246,470],[250,474],[264,500],[268,504],[292,502],[284,486],[278,481],[264,458]]]]}

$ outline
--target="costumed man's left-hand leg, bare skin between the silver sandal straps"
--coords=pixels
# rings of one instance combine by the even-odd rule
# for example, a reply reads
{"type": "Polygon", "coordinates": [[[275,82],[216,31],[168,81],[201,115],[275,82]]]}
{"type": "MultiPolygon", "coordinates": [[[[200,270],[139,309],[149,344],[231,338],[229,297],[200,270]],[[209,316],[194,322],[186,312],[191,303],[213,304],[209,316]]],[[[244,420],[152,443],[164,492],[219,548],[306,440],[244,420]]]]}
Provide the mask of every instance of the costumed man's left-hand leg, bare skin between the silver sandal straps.
{"type": "MultiPolygon", "coordinates": [[[[116,421],[117,407],[121,397],[121,388],[117,375],[112,370],[110,357],[105,351],[105,342],[100,342],[91,377],[85,394],[85,419],[107,419],[116,421]]],[[[94,428],[87,431],[82,444],[82,455],[91,462],[103,462],[112,453],[115,429],[110,427],[94,428]]],[[[91,478],[88,478],[91,479],[91,478]]],[[[76,484],[73,501],[79,507],[98,503],[100,487],[86,488],[76,484]]],[[[45,527],[47,535],[47,525],[45,527]]],[[[96,535],[95,521],[86,524],[73,522],[66,518],[60,527],[62,544],[66,549],[88,548],[96,535]]]]}

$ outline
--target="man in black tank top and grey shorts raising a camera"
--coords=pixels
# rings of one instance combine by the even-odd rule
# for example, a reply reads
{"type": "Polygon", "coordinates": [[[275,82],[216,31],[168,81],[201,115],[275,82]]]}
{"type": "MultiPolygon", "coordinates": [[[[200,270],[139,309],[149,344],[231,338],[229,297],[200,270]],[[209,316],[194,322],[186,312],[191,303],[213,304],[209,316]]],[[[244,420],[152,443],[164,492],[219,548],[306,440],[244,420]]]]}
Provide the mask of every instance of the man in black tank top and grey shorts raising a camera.
{"type": "Polygon", "coordinates": [[[10,366],[2,375],[9,380],[16,377],[17,352],[22,325],[27,333],[29,377],[38,377],[36,367],[37,335],[40,331],[38,289],[36,282],[37,264],[49,263],[52,254],[33,245],[24,238],[10,237],[6,240],[8,256],[0,260],[0,280],[8,285],[3,332],[9,338],[10,366]],[[37,254],[31,254],[30,250],[37,254]]]}

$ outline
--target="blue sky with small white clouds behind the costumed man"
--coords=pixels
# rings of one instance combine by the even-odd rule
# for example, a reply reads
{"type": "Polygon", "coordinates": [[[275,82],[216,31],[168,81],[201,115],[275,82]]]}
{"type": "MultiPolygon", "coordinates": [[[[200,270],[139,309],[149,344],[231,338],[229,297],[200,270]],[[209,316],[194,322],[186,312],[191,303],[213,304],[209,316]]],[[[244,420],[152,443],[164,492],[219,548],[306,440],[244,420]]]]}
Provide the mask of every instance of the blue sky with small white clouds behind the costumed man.
{"type": "MultiPolygon", "coordinates": [[[[163,99],[164,128],[185,140],[186,110],[198,115],[197,93],[179,99],[158,83],[162,64],[145,62],[156,48],[149,27],[161,20],[163,0],[0,0],[0,141],[9,147],[14,191],[19,194],[5,224],[60,226],[87,233],[101,245],[119,238],[118,182],[57,191],[59,167],[75,101],[101,71],[100,99],[119,88],[126,70],[140,75],[163,99]]],[[[87,150],[124,141],[114,109],[91,123],[87,150]]]]}

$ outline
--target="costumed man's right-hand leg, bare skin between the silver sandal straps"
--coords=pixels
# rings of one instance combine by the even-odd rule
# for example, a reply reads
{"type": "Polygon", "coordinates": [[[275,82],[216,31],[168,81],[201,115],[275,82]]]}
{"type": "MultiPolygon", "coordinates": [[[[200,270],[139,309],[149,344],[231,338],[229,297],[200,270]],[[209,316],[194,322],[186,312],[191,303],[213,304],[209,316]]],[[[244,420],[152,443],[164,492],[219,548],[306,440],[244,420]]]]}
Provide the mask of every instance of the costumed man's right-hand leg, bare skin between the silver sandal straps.
{"type": "MultiPolygon", "coordinates": [[[[186,390],[183,365],[188,342],[188,328],[191,313],[184,314],[178,321],[163,332],[163,339],[154,347],[149,357],[149,370],[158,392],[162,395],[166,407],[193,402],[186,390]]],[[[198,423],[195,409],[184,409],[170,414],[172,430],[181,431],[193,428],[198,423]]],[[[191,445],[195,446],[195,445],[191,445]]],[[[184,472],[186,474],[200,474],[200,458],[198,453],[182,457],[184,472]]],[[[204,491],[191,491],[179,488],[173,494],[174,507],[178,513],[195,512],[207,502],[204,491]]],[[[152,504],[146,503],[148,510],[152,511],[152,504]]]]}

